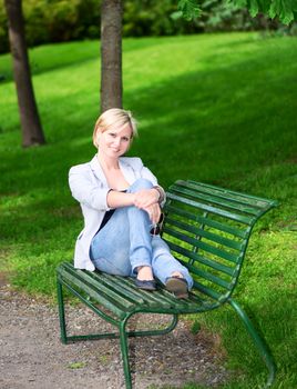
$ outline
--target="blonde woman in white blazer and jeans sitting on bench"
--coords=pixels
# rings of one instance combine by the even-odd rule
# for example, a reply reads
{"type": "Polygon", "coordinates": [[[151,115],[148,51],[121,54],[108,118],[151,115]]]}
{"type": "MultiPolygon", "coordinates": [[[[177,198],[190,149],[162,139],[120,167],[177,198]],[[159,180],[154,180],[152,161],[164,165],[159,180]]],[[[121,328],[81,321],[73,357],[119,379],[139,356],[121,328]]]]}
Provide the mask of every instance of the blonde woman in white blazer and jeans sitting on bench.
{"type": "Polygon", "coordinates": [[[136,134],[131,112],[109,109],[95,123],[98,153],[70,169],[71,192],[84,217],[74,266],[135,277],[145,290],[156,289],[156,277],[177,298],[186,298],[193,280],[155,233],[165,192],[140,158],[122,157],[136,134]]]}

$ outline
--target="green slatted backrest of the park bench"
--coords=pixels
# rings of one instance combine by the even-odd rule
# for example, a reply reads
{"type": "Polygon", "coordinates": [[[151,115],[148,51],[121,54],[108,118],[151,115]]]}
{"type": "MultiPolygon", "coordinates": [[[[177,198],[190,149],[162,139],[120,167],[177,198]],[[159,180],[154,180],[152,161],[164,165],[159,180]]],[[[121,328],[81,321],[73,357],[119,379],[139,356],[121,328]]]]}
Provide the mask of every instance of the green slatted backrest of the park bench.
{"type": "Polygon", "coordinates": [[[213,308],[232,295],[255,222],[276,201],[195,181],[167,191],[162,237],[194,278],[194,292],[213,308]]]}

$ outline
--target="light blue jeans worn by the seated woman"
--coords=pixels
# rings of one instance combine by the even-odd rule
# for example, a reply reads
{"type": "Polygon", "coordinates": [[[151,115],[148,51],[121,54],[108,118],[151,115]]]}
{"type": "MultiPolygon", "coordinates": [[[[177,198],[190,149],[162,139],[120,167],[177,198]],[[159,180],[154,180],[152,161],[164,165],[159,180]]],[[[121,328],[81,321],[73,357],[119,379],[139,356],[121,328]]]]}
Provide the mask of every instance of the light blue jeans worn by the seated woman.
{"type": "MultiPolygon", "coordinates": [[[[139,179],[127,192],[152,187],[151,181],[139,179]]],[[[193,279],[187,268],[171,255],[168,246],[160,236],[150,233],[151,229],[151,220],[144,210],[134,206],[117,208],[94,236],[90,248],[91,260],[101,271],[125,277],[135,277],[137,267],[150,266],[153,275],[163,283],[173,272],[178,271],[191,289],[193,279]]]]}

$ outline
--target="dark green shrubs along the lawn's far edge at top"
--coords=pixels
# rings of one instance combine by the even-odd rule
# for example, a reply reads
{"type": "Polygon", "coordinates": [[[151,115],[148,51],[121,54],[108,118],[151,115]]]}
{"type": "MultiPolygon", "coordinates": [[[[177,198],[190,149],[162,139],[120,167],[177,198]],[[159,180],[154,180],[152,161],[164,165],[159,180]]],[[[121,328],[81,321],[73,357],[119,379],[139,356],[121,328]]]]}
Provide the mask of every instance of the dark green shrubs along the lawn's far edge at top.
{"type": "MultiPolygon", "coordinates": [[[[123,0],[123,7],[124,37],[278,29],[281,34],[297,33],[296,23],[284,28],[263,16],[253,19],[246,10],[222,0],[204,0],[202,17],[191,22],[172,18],[177,0],[123,0]]],[[[100,37],[99,0],[25,0],[23,14],[29,47],[100,37]]],[[[0,53],[8,49],[7,16],[0,2],[0,53]]]]}

